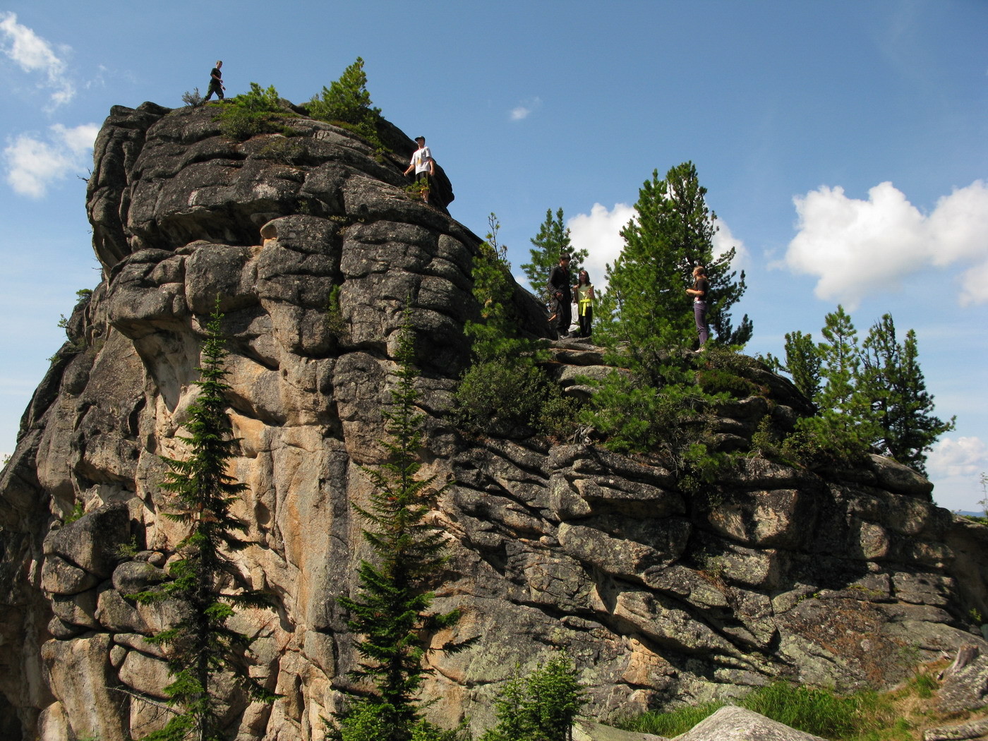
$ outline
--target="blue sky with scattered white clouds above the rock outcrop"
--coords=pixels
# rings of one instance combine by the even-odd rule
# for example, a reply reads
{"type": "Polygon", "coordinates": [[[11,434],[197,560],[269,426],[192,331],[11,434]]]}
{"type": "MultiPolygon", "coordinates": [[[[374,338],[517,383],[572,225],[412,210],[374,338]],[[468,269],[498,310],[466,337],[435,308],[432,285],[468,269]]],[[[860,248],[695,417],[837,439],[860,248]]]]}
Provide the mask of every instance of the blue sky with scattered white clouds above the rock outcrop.
{"type": "Polygon", "coordinates": [[[113,105],[180,106],[223,59],[303,102],[360,55],[385,118],[428,137],[453,217],[487,214],[516,266],[562,207],[596,283],[652,170],[692,160],[739,248],[751,353],[860,333],[919,338],[942,417],[934,496],[979,509],[988,470],[988,2],[536,0],[87,3],[0,0],[0,451],[99,282],[85,216],[113,105]]]}

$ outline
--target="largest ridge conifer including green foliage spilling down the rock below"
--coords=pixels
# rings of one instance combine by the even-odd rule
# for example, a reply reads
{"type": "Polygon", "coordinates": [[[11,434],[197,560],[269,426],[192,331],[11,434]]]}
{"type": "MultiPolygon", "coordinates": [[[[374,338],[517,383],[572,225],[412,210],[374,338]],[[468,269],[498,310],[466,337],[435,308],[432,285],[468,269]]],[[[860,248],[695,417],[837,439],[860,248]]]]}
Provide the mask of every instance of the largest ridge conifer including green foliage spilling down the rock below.
{"type": "Polygon", "coordinates": [[[697,342],[686,292],[697,264],[707,269],[707,316],[714,328],[719,322],[721,340],[743,342],[751,334],[747,317],[738,330],[729,328],[728,309],[744,292],[744,274],[735,281],[730,271],[733,250],[713,258],[715,215],[705,194],[691,162],[672,168],[665,180],[654,171],[638,192],[636,217],[621,230],[624,249],[608,266],[598,314],[598,336],[612,363],[631,372],[612,373],[584,415],[609,447],[659,453],[688,488],[716,466],[702,442],[713,398],[696,382],[695,362],[686,353],[697,342]]]}

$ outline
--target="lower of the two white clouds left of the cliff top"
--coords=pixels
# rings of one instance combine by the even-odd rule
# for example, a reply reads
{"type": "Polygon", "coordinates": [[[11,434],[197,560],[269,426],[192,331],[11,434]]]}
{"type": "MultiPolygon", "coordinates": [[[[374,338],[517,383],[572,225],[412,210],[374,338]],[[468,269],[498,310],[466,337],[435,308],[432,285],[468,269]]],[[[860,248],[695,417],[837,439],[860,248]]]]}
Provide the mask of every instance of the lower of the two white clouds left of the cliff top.
{"type": "Polygon", "coordinates": [[[3,151],[7,182],[22,196],[42,198],[53,182],[85,167],[99,130],[96,124],[73,128],[54,124],[44,139],[17,136],[3,151]]]}

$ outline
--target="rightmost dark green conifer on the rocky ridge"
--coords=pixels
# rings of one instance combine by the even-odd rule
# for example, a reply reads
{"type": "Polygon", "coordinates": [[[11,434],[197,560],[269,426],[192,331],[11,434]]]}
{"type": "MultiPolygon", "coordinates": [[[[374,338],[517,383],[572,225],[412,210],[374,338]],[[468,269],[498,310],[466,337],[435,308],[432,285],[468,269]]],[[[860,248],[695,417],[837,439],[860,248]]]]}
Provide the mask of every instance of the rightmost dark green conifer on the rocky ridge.
{"type": "Polygon", "coordinates": [[[916,333],[909,330],[900,344],[892,316],[884,314],[868,331],[862,351],[861,386],[880,428],[875,444],[900,463],[926,473],[926,452],[954,428],[955,418],[944,422],[933,413],[916,333]]]}

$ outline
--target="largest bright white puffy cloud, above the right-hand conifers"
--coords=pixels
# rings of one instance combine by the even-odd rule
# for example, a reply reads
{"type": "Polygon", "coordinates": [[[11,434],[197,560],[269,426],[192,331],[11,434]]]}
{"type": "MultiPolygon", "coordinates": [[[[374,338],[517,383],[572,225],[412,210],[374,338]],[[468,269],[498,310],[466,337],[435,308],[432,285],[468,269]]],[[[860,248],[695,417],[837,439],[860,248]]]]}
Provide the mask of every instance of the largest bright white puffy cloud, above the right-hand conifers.
{"type": "MultiPolygon", "coordinates": [[[[817,276],[819,298],[854,309],[874,289],[874,266],[882,283],[897,287],[906,276],[930,267],[962,263],[962,304],[988,301],[988,188],[977,180],[922,213],[891,183],[868,191],[867,201],[844,189],[820,188],[793,199],[798,233],[782,265],[817,276]]],[[[776,264],[777,267],[779,264],[776,264]]]]}

